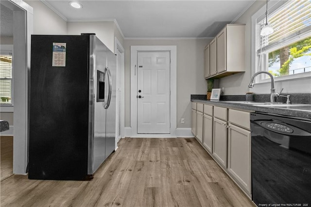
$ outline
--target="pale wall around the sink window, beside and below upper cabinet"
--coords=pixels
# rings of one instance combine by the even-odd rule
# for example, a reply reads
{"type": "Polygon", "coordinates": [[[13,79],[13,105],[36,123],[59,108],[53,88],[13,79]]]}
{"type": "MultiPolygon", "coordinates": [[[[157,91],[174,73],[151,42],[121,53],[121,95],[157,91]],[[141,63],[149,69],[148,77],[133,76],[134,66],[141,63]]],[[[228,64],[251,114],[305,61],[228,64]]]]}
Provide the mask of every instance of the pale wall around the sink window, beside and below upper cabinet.
{"type": "MultiPolygon", "coordinates": [[[[234,23],[246,24],[246,56],[245,66],[246,71],[244,73],[238,73],[235,75],[227,76],[220,79],[219,86],[225,87],[225,95],[243,95],[246,92],[252,91],[257,94],[270,94],[271,83],[255,84],[254,88],[249,88],[248,84],[252,75],[255,73],[254,63],[251,62],[251,50],[252,41],[254,36],[251,35],[252,22],[251,17],[263,6],[266,1],[256,0],[252,6],[250,6],[244,14],[239,17],[234,23]]],[[[296,79],[290,81],[276,81],[276,92],[279,92],[281,88],[284,88],[282,93],[310,93],[311,92],[311,80],[310,78],[296,79]]]]}

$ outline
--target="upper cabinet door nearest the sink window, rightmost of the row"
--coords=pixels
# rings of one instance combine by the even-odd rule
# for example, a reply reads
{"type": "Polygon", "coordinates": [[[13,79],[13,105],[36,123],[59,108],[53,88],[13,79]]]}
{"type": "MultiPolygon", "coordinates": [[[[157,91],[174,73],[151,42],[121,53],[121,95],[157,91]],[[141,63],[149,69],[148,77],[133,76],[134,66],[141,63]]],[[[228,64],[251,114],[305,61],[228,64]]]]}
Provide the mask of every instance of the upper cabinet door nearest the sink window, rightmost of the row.
{"type": "Polygon", "coordinates": [[[226,70],[226,28],[217,35],[217,72],[226,70]]]}

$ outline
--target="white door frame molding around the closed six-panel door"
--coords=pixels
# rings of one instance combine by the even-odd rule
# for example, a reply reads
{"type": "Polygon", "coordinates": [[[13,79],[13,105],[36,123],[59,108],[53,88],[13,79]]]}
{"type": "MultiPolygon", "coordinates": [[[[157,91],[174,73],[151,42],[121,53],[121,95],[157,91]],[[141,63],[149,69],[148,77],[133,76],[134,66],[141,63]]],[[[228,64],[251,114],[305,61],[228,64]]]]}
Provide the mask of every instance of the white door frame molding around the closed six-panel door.
{"type": "Polygon", "coordinates": [[[177,127],[177,47],[165,46],[131,46],[131,138],[167,138],[176,137],[177,127]],[[170,134],[137,134],[137,53],[138,52],[170,52],[170,134]]]}

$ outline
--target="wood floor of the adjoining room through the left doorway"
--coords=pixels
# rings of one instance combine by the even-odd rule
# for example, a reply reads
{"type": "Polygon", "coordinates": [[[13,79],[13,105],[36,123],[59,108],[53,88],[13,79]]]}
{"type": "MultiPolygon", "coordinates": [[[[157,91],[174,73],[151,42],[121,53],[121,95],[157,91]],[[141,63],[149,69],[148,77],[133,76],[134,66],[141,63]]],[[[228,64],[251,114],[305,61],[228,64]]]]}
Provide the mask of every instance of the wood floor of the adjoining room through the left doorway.
{"type": "Polygon", "coordinates": [[[13,174],[13,137],[0,137],[0,172],[1,181],[13,174]]]}

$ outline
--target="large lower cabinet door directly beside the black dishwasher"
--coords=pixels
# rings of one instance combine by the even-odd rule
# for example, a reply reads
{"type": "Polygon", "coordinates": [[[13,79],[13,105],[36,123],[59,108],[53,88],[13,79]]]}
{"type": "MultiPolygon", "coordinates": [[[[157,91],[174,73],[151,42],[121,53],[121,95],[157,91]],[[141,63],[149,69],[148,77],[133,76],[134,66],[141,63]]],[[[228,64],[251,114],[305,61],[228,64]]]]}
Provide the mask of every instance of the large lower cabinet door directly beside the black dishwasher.
{"type": "Polygon", "coordinates": [[[251,193],[251,132],[229,124],[228,171],[237,182],[251,193]]]}

